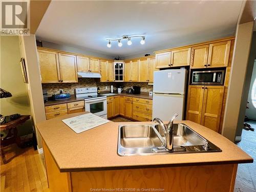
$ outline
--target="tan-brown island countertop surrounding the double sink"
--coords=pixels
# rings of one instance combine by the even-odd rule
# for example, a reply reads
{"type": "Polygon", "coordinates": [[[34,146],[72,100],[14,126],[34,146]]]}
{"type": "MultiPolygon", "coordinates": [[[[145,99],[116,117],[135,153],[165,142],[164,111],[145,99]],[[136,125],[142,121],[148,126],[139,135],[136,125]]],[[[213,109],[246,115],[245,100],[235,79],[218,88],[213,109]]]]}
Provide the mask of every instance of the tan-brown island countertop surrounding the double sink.
{"type": "Polygon", "coordinates": [[[217,153],[167,154],[152,156],[119,156],[118,126],[155,124],[154,122],[112,122],[76,134],[61,120],[87,112],[69,114],[36,124],[60,172],[171,167],[209,164],[250,163],[253,159],[222,135],[191,121],[182,122],[221,148],[217,153]]]}

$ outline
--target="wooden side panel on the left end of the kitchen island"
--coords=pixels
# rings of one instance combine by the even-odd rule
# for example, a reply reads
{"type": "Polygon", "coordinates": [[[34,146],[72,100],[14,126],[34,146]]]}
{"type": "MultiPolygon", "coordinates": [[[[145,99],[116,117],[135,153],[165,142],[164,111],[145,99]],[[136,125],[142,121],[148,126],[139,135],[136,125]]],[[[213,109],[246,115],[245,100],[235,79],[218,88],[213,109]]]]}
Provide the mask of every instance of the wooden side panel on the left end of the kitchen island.
{"type": "Polygon", "coordinates": [[[44,148],[45,165],[47,172],[47,180],[50,191],[56,192],[71,192],[71,173],[60,173],[49,148],[42,140],[42,147],[44,148]]]}

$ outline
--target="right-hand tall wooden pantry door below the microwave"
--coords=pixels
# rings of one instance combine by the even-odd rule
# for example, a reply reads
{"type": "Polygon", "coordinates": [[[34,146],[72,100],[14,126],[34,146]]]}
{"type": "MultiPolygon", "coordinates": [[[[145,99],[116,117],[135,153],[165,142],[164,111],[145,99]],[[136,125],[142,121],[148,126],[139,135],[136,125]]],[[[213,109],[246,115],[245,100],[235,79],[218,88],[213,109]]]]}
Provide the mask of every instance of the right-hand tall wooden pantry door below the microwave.
{"type": "Polygon", "coordinates": [[[224,86],[205,86],[201,124],[219,132],[224,86]]]}

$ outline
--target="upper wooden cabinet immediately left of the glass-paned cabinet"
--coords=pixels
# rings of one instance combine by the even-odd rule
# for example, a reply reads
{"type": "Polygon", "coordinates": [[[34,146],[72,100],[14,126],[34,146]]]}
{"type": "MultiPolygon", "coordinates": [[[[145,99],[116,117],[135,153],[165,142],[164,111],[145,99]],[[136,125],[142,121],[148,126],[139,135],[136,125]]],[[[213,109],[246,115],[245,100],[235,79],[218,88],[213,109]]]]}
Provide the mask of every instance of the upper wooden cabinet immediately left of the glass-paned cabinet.
{"type": "Polygon", "coordinates": [[[113,61],[100,60],[101,82],[114,81],[113,61]]]}

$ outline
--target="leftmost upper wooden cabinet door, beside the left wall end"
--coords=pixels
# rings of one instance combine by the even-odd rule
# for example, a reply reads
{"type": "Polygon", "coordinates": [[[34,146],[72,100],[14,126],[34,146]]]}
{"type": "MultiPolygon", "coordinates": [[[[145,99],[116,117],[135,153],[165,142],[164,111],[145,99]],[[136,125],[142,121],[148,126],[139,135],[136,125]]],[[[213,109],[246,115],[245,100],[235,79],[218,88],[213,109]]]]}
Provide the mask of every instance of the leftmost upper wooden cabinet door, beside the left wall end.
{"type": "Polygon", "coordinates": [[[42,83],[60,82],[58,53],[46,50],[37,50],[42,83]]]}

